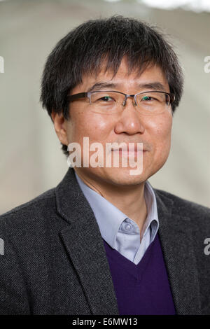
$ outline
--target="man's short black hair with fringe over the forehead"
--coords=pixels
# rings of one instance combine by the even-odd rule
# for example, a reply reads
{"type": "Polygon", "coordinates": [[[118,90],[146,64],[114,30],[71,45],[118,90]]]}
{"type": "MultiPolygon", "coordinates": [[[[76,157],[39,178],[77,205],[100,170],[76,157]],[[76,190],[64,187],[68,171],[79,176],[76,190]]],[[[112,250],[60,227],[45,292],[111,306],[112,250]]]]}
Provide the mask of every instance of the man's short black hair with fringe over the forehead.
{"type": "MultiPolygon", "coordinates": [[[[41,81],[41,103],[52,120],[52,110],[69,120],[69,92],[82,82],[84,73],[98,73],[106,59],[106,70],[113,76],[123,57],[129,70],[144,71],[157,64],[165,73],[170,92],[175,94],[172,113],[183,93],[183,71],[167,35],[157,27],[120,15],[88,20],[66,34],[52,50],[45,63],[41,81]]],[[[69,155],[67,146],[62,151],[69,155]]]]}

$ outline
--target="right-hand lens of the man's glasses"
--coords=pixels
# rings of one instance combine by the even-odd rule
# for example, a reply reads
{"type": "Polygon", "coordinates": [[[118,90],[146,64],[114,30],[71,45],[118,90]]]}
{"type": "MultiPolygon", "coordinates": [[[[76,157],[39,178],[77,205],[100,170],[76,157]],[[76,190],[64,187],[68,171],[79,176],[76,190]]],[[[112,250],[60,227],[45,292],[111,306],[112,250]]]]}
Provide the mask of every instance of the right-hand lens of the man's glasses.
{"type": "Polygon", "coordinates": [[[137,94],[137,107],[144,114],[159,114],[169,109],[170,98],[164,92],[142,92],[137,94]]]}

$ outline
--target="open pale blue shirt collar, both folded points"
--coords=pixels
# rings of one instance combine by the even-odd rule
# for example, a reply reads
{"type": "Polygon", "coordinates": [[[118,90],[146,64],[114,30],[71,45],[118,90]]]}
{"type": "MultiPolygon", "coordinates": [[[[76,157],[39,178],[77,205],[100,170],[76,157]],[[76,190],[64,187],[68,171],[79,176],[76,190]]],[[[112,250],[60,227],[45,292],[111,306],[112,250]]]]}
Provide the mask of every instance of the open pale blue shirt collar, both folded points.
{"type": "MultiPolygon", "coordinates": [[[[110,245],[114,246],[116,241],[116,235],[118,234],[118,230],[120,225],[125,221],[127,215],[125,215],[120,209],[115,207],[111,202],[106,200],[102,195],[95,192],[87,186],[82,179],[76,174],[76,179],[78,184],[83,191],[87,201],[92,208],[94,216],[99,225],[99,230],[103,239],[110,245]]],[[[145,201],[148,209],[148,216],[144,223],[144,235],[151,225],[151,242],[155,239],[155,235],[158,232],[159,222],[158,222],[158,209],[155,193],[153,188],[148,181],[145,183],[144,189],[145,201]]]]}

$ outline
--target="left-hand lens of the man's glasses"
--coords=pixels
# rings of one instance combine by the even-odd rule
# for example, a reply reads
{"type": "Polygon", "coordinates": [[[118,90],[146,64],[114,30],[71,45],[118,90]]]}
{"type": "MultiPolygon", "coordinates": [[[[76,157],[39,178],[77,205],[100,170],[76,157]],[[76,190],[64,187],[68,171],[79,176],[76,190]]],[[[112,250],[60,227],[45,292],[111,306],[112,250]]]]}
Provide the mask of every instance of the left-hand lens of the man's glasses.
{"type": "Polygon", "coordinates": [[[120,111],[124,102],[124,95],[118,92],[92,92],[90,97],[92,111],[99,113],[113,113],[120,111]]]}

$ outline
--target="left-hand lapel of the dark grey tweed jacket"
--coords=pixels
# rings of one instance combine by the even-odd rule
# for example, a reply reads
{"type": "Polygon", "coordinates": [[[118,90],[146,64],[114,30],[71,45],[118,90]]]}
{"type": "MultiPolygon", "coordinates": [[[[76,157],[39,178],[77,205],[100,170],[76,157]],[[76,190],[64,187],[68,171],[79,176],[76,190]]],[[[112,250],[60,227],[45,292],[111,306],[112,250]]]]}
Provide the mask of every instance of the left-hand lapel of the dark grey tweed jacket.
{"type": "Polygon", "coordinates": [[[103,239],[94,213],[69,168],[57,186],[57,211],[70,225],[60,233],[92,314],[118,315],[103,239]]]}

